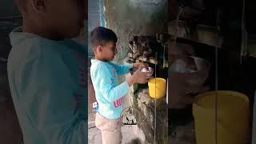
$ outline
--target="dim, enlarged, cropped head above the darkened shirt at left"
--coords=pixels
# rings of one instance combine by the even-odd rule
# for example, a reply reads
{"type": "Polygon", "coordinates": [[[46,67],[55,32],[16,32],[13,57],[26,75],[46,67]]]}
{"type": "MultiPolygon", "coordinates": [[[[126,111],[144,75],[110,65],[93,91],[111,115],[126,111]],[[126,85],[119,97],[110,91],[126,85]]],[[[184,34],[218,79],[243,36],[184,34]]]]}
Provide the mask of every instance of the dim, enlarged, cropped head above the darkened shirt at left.
{"type": "Polygon", "coordinates": [[[86,18],[86,0],[14,0],[23,32],[61,40],[78,36],[86,18]]]}

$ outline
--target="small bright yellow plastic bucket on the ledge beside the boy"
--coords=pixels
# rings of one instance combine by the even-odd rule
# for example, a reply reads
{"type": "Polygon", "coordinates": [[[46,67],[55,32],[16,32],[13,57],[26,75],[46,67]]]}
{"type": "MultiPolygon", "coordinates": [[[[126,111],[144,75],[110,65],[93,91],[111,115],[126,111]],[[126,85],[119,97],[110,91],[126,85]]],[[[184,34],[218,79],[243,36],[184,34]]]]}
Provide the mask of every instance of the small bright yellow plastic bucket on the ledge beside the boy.
{"type": "Polygon", "coordinates": [[[166,95],[166,80],[164,78],[151,78],[148,85],[151,98],[163,98],[166,95]]]}

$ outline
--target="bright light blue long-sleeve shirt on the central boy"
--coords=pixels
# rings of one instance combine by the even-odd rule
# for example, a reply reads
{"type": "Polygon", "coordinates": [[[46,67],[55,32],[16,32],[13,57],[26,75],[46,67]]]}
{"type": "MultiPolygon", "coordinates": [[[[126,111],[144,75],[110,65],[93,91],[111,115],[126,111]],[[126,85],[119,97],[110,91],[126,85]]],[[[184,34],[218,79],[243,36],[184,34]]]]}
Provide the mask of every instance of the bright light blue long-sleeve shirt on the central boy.
{"type": "Polygon", "coordinates": [[[118,75],[127,74],[132,68],[119,66],[113,62],[91,60],[90,76],[94,85],[98,113],[105,118],[120,118],[123,97],[128,94],[129,85],[122,82],[118,85],[118,75]]]}

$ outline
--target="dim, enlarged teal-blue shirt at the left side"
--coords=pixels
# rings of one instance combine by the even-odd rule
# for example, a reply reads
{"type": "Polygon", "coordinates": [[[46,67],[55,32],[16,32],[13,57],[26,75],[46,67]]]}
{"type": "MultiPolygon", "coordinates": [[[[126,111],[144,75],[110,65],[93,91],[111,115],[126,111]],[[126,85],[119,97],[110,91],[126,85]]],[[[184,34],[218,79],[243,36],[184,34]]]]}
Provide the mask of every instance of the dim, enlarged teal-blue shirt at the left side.
{"type": "Polygon", "coordinates": [[[86,47],[21,28],[10,42],[8,78],[24,144],[87,143],[86,47]]]}

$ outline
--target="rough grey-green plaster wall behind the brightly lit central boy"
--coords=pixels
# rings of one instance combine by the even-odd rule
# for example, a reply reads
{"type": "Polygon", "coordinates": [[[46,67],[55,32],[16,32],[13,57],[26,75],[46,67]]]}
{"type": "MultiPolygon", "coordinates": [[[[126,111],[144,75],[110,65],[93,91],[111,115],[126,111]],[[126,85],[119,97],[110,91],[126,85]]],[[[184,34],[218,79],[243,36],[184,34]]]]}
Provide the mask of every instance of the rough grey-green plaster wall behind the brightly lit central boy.
{"type": "MultiPolygon", "coordinates": [[[[167,32],[167,0],[103,0],[103,14],[106,27],[118,36],[118,54],[114,58],[118,64],[123,64],[127,57],[131,36],[167,32]]],[[[127,106],[129,98],[124,101],[124,107],[127,106]]]]}

